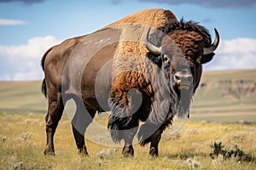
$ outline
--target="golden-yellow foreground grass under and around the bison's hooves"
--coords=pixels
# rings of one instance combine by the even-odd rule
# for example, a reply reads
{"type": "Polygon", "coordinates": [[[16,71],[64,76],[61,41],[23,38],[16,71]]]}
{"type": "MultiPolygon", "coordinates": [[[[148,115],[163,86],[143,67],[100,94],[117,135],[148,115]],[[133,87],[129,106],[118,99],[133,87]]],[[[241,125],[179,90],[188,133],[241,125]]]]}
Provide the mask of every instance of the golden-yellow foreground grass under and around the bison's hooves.
{"type": "MultiPolygon", "coordinates": [[[[108,116],[96,116],[104,124],[108,116]]],[[[42,114],[0,114],[0,169],[254,169],[256,125],[187,121],[174,134],[167,129],[160,141],[160,156],[148,155],[148,146],[135,144],[135,156],[125,158],[122,148],[86,140],[90,156],[80,156],[71,124],[64,114],[55,133],[56,156],[44,156],[45,131],[42,114]],[[236,157],[211,158],[211,145],[236,144],[253,161],[236,157]]]]}

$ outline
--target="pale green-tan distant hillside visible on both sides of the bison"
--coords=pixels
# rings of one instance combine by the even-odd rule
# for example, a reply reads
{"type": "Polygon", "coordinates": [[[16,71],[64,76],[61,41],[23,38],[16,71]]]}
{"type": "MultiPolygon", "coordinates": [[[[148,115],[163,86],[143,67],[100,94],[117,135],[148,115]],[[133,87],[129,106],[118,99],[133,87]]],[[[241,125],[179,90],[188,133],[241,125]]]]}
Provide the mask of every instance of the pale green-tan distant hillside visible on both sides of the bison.
{"type": "MultiPolygon", "coordinates": [[[[45,113],[47,99],[40,90],[41,81],[0,82],[0,112],[45,113]]],[[[196,119],[212,114],[240,115],[256,122],[256,70],[204,72],[190,115],[196,119]]]]}

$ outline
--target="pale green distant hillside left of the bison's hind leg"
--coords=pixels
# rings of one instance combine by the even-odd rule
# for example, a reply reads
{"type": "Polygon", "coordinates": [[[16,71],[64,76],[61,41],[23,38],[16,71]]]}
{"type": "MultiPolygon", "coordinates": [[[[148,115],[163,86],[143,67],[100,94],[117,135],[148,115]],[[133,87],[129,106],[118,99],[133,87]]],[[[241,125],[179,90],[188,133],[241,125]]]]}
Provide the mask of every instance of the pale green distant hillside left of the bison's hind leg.
{"type": "Polygon", "coordinates": [[[45,112],[41,82],[0,82],[0,112],[45,112]]]}

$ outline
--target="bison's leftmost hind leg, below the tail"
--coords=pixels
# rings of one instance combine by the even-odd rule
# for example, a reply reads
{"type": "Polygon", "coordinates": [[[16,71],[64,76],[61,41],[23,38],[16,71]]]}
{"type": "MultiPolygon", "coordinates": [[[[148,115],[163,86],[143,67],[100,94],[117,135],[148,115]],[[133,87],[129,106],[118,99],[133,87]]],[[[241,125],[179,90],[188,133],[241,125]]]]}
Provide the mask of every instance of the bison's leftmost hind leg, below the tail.
{"type": "Polygon", "coordinates": [[[61,93],[49,95],[48,113],[45,116],[46,122],[46,148],[44,155],[55,155],[54,135],[56,127],[61,119],[64,105],[61,99],[61,93]]]}

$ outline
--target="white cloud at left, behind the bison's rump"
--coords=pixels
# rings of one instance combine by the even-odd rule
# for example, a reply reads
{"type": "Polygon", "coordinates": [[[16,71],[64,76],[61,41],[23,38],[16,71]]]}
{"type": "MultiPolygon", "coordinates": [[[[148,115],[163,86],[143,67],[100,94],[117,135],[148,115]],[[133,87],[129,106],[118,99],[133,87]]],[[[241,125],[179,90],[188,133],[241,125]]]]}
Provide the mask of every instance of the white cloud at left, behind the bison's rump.
{"type": "Polygon", "coordinates": [[[44,77],[40,60],[44,52],[59,43],[55,37],[33,37],[27,44],[0,45],[0,80],[38,80],[44,77]]]}

